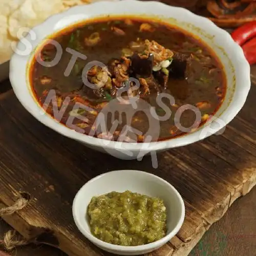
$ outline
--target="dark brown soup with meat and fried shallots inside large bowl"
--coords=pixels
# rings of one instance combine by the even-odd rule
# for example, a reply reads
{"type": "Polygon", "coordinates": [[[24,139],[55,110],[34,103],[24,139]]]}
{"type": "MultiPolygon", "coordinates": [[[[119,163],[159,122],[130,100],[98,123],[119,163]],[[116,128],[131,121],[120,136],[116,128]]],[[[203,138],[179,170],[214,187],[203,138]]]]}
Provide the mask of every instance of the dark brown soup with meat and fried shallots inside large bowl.
{"type": "Polygon", "coordinates": [[[36,51],[30,82],[40,105],[59,122],[125,142],[145,141],[150,126],[159,130],[153,141],[193,132],[217,112],[226,93],[223,67],[201,40],[135,17],[98,18],[49,37],[36,51]],[[56,65],[50,64],[59,54],[52,40],[62,49],[56,65]],[[137,132],[127,133],[127,126],[137,132]]]}

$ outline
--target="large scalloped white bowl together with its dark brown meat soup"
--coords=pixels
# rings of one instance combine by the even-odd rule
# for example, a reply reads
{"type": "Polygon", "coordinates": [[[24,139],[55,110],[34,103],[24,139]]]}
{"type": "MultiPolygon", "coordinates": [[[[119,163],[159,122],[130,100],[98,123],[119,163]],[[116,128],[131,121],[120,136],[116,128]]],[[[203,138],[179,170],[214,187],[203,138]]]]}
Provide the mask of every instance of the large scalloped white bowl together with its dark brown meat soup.
{"type": "Polygon", "coordinates": [[[41,123],[135,159],[223,133],[245,103],[250,66],[207,18],[124,0],[74,7],[31,29],[10,81],[41,123]]]}

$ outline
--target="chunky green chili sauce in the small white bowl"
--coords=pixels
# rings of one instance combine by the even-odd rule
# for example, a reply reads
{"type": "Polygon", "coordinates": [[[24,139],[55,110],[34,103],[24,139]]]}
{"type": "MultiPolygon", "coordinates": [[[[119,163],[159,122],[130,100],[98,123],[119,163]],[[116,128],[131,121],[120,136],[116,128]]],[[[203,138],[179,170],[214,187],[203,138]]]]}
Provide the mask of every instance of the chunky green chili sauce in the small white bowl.
{"type": "Polygon", "coordinates": [[[92,234],[106,243],[138,246],[166,236],[166,207],[160,198],[113,191],[93,197],[88,215],[92,234]]]}

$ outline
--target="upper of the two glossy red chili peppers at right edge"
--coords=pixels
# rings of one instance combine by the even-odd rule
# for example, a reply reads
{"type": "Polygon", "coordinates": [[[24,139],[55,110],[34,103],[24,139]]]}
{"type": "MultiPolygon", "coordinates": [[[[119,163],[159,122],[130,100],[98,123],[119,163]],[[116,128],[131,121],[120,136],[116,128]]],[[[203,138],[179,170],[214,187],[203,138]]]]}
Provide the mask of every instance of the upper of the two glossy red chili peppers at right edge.
{"type": "Polygon", "coordinates": [[[231,36],[237,44],[243,45],[247,40],[256,36],[256,21],[246,23],[237,28],[231,33],[231,36]]]}

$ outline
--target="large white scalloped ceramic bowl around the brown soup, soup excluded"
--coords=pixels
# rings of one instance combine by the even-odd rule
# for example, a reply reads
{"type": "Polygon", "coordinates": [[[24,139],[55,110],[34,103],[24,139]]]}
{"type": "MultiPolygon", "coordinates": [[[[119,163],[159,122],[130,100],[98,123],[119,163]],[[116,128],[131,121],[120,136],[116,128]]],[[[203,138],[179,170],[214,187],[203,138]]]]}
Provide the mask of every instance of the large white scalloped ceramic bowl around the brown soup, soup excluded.
{"type": "Polygon", "coordinates": [[[10,81],[19,101],[37,120],[56,132],[118,158],[135,159],[139,155],[143,156],[152,151],[164,151],[168,148],[188,145],[217,133],[238,114],[250,89],[250,66],[244,57],[241,47],[232,40],[226,31],[218,28],[210,20],[183,8],[167,6],[153,1],[98,2],[77,6],[66,12],[51,16],[44,23],[33,28],[32,31],[33,33],[31,35],[28,34],[23,42],[19,42],[17,46],[18,49],[24,49],[24,45],[28,46],[30,44],[31,49],[27,47],[27,50],[30,50],[29,52],[32,52],[32,54],[19,55],[15,53],[10,61],[10,81]],[[226,97],[221,108],[215,114],[215,117],[222,120],[221,124],[216,121],[207,122],[194,133],[166,141],[124,143],[106,141],[74,132],[49,115],[42,115],[41,107],[34,99],[28,84],[28,74],[26,72],[34,49],[50,34],[74,24],[78,20],[105,15],[155,17],[185,29],[205,41],[220,58],[227,77],[226,97]]]}

